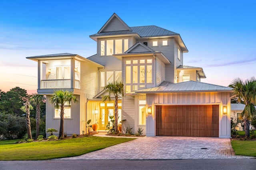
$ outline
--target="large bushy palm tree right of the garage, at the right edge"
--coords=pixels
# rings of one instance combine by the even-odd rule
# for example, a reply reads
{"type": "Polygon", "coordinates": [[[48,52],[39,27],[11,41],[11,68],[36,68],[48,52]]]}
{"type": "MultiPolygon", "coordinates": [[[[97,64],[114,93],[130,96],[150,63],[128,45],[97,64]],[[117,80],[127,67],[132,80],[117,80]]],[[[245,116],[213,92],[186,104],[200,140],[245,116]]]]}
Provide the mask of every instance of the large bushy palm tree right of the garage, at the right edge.
{"type": "Polygon", "coordinates": [[[256,109],[254,104],[256,103],[256,79],[251,77],[244,82],[240,78],[236,78],[229,85],[234,90],[234,95],[238,98],[238,101],[243,101],[245,104],[244,110],[240,115],[240,119],[244,120],[245,136],[250,136],[250,121],[256,117],[256,109]]]}

